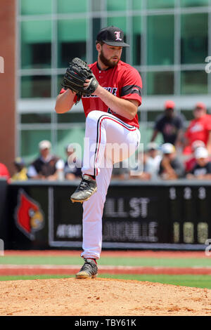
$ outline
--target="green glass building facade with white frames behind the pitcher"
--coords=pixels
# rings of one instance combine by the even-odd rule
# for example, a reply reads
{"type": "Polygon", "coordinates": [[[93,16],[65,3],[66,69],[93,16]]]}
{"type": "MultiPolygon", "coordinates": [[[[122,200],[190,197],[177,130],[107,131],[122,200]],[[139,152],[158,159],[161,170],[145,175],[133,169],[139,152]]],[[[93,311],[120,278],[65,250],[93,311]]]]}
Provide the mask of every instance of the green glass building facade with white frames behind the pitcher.
{"type": "Polygon", "coordinates": [[[198,101],[211,110],[211,0],[19,0],[16,9],[16,154],[27,163],[43,139],[60,157],[68,143],[83,145],[82,103],[66,114],[56,114],[54,105],[68,62],[94,62],[96,34],[108,25],[124,30],[130,47],[122,60],[143,79],[142,143],[167,99],[187,121],[198,101]]]}

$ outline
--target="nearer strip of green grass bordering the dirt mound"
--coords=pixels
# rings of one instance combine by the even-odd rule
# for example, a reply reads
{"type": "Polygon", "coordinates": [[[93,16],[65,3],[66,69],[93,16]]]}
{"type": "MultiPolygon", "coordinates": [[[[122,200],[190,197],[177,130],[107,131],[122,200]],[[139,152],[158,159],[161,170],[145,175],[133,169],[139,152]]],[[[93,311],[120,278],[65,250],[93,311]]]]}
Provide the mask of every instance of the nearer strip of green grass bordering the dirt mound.
{"type": "MultiPolygon", "coordinates": [[[[0,281],[16,281],[20,279],[61,279],[75,277],[74,275],[20,275],[0,276],[0,281]]],[[[133,279],[136,281],[158,282],[179,286],[191,286],[211,289],[211,275],[111,275],[101,274],[98,278],[133,279]]]]}

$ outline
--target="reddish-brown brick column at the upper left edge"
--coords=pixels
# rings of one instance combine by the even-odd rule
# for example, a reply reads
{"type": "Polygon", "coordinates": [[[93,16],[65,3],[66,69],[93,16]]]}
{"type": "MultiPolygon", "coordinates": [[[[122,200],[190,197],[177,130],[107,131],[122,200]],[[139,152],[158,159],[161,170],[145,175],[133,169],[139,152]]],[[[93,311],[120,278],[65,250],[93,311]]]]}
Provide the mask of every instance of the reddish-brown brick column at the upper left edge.
{"type": "Polygon", "coordinates": [[[16,8],[2,0],[0,10],[0,162],[13,171],[16,140],[16,8]]]}

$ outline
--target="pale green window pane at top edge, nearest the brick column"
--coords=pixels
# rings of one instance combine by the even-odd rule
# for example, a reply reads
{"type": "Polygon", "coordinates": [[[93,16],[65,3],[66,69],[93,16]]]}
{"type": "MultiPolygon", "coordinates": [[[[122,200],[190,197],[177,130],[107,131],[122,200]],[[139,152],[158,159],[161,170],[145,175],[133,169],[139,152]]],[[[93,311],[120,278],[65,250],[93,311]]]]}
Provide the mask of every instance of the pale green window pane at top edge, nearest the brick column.
{"type": "Polygon", "coordinates": [[[21,0],[21,15],[40,15],[50,14],[52,12],[51,0],[21,0]]]}

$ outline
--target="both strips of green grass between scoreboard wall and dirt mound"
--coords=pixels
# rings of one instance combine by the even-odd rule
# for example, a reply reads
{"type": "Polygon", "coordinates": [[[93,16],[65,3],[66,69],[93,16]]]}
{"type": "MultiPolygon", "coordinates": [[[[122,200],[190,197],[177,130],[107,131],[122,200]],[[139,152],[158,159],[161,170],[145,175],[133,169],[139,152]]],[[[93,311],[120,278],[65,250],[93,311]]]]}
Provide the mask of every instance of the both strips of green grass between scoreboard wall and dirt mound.
{"type": "MultiPolygon", "coordinates": [[[[0,256],[0,265],[80,265],[80,256],[0,256]]],[[[103,257],[98,265],[142,266],[142,267],[211,267],[211,258],[132,258],[103,257]]],[[[20,275],[0,276],[0,281],[18,279],[57,279],[74,277],[74,275],[20,275]]],[[[179,286],[192,286],[211,289],[211,275],[110,275],[99,274],[100,278],[135,279],[138,281],[159,282],[179,286]]]]}

